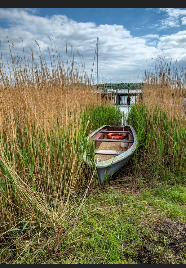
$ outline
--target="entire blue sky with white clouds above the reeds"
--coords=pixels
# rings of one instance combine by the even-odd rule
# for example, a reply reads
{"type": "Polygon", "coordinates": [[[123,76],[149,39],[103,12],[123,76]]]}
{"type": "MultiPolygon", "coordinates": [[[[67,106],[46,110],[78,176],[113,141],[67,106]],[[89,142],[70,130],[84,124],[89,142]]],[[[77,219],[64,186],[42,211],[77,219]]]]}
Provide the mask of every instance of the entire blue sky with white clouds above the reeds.
{"type": "Polygon", "coordinates": [[[5,65],[7,40],[13,43],[15,54],[23,56],[23,41],[24,50],[31,54],[33,47],[37,57],[36,40],[47,61],[51,42],[55,42],[64,61],[67,44],[68,57],[73,47],[77,66],[83,63],[87,74],[91,76],[93,69],[96,77],[97,63],[93,68],[93,60],[97,38],[101,83],[142,82],[144,67],[153,68],[158,57],[165,57],[168,63],[172,58],[172,66],[177,62],[185,68],[186,8],[0,8],[5,65]]]}

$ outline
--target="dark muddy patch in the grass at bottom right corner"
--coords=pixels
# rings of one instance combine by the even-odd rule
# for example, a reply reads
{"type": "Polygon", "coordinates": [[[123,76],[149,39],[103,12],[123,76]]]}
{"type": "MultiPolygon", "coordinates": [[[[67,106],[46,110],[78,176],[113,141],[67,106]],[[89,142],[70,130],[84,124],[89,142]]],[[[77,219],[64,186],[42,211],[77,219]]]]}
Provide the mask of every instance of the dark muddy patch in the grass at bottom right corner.
{"type": "Polygon", "coordinates": [[[145,242],[137,248],[136,262],[143,264],[185,263],[186,224],[184,222],[170,218],[158,219],[151,234],[151,237],[145,236],[145,242]],[[152,239],[153,235],[154,239],[152,239]]]}

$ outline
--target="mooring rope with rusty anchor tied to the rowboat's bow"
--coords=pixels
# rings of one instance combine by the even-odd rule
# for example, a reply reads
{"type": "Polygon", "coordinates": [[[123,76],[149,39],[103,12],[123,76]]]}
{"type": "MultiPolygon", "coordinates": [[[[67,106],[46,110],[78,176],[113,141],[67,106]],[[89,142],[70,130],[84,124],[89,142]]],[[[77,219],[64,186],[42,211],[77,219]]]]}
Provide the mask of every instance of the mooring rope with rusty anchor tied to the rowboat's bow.
{"type": "Polygon", "coordinates": [[[85,194],[84,194],[82,203],[81,203],[81,205],[80,205],[80,207],[79,207],[79,209],[78,209],[78,212],[77,212],[77,214],[76,214],[76,217],[73,219],[73,221],[72,221],[72,223],[71,223],[69,229],[66,231],[66,233],[64,234],[64,236],[60,239],[59,243],[57,243],[58,237],[59,237],[60,234],[62,234],[62,230],[63,230],[63,228],[60,227],[60,229],[58,230],[57,237],[56,237],[55,242],[54,242],[54,247],[53,247],[53,249],[49,248],[48,237],[47,237],[47,235],[46,235],[46,242],[47,242],[48,250],[49,250],[49,251],[53,251],[55,255],[62,256],[62,255],[64,255],[64,254],[66,254],[66,253],[72,251],[73,249],[75,249],[75,247],[73,247],[73,248],[69,248],[67,251],[65,251],[65,252],[63,252],[63,253],[57,253],[58,246],[59,246],[60,243],[63,241],[63,239],[65,238],[65,236],[68,234],[68,232],[69,232],[69,230],[72,228],[72,226],[75,225],[75,224],[77,223],[77,221],[78,221],[78,214],[79,214],[79,212],[80,212],[80,210],[81,210],[81,207],[82,207],[83,202],[84,202],[84,200],[85,200],[86,194],[87,194],[88,189],[89,189],[89,187],[90,187],[90,185],[91,185],[91,181],[92,181],[92,179],[93,179],[93,176],[94,176],[94,174],[95,174],[95,171],[96,171],[96,168],[97,168],[97,165],[98,165],[98,162],[99,162],[99,161],[101,161],[101,160],[98,158],[98,159],[96,160],[96,162],[95,162],[95,169],[94,169],[94,172],[93,172],[93,174],[92,174],[92,177],[91,177],[91,180],[90,180],[90,182],[89,182],[89,185],[87,186],[86,192],[85,192],[85,194]]]}

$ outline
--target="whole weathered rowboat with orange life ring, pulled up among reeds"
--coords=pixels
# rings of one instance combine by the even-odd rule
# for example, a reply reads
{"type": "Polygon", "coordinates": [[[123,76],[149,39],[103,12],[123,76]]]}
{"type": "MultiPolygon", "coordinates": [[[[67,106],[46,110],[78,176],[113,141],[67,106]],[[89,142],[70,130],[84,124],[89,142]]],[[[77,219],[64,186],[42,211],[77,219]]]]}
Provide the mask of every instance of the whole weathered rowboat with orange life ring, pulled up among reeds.
{"type": "Polygon", "coordinates": [[[137,147],[137,136],[132,126],[104,125],[87,137],[87,144],[87,150],[84,152],[85,162],[93,167],[93,162],[97,159],[100,160],[96,170],[100,183],[103,183],[131,158],[137,147]],[[112,134],[111,139],[108,138],[108,134],[112,134]],[[121,136],[122,139],[120,139],[121,136]],[[123,138],[123,136],[125,137],[123,138]]]}

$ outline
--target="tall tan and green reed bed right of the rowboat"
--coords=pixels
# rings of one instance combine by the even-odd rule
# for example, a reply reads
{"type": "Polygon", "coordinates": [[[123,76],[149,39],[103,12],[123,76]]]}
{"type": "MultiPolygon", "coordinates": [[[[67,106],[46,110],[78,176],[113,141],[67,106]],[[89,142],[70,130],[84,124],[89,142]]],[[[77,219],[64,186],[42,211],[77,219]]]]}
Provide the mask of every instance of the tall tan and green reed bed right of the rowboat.
{"type": "Polygon", "coordinates": [[[159,57],[153,68],[145,67],[143,79],[143,101],[130,114],[138,132],[137,161],[142,165],[136,171],[147,179],[185,182],[186,69],[159,57]]]}

